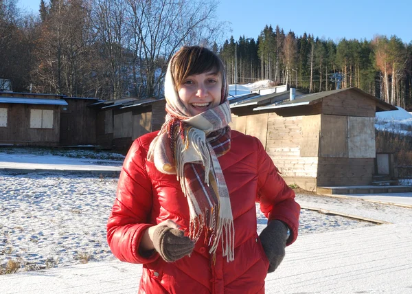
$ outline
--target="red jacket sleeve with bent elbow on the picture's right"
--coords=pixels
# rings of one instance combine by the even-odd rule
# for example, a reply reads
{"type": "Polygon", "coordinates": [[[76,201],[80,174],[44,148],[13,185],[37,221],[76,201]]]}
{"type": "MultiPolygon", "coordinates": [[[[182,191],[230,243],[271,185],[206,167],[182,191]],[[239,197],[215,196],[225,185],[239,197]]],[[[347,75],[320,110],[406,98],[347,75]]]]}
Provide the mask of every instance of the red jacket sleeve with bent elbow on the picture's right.
{"type": "Polygon", "coordinates": [[[295,192],[288,187],[262,143],[258,144],[258,194],[260,210],[270,220],[282,220],[290,229],[286,245],[295,242],[299,227],[300,205],[295,201],[295,192]]]}

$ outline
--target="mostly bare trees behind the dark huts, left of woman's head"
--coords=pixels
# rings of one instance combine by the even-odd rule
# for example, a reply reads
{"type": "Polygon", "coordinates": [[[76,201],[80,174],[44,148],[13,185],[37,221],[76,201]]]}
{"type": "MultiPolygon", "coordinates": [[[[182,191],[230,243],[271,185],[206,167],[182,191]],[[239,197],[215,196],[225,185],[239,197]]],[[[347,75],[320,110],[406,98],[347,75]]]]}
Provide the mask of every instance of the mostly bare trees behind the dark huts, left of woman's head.
{"type": "Polygon", "coordinates": [[[14,91],[117,99],[161,95],[181,45],[211,46],[225,30],[217,2],[39,1],[39,16],[0,1],[0,78],[14,91]]]}

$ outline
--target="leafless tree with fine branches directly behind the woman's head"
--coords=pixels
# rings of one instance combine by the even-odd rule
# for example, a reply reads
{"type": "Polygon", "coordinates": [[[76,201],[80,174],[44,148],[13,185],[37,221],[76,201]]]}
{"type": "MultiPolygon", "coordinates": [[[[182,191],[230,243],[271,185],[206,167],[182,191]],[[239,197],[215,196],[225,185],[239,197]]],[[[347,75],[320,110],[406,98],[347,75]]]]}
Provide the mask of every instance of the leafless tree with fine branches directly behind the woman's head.
{"type": "Polygon", "coordinates": [[[127,4],[130,45],[139,56],[146,97],[161,93],[168,60],[181,45],[211,45],[221,32],[220,23],[213,22],[216,1],[127,0],[127,4]]]}

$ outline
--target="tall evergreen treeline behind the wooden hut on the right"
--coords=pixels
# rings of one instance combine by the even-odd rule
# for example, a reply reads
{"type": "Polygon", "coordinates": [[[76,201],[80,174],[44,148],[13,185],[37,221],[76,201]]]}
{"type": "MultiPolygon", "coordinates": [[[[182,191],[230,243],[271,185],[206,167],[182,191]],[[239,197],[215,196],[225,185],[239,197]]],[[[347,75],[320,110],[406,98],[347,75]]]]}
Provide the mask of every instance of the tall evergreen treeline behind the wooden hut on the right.
{"type": "Polygon", "coordinates": [[[312,34],[285,34],[279,26],[266,26],[255,41],[233,36],[220,49],[230,83],[272,80],[308,93],[358,87],[390,104],[412,107],[412,43],[376,36],[373,40],[339,43],[312,34]],[[237,64],[237,70],[236,70],[237,64]]]}

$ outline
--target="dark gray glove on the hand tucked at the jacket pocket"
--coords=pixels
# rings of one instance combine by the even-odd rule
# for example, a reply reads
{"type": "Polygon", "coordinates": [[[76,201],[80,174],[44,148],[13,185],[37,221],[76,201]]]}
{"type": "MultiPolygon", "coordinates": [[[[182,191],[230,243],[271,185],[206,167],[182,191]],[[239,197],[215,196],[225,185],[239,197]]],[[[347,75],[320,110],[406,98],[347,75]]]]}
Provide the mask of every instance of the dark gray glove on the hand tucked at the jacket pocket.
{"type": "Polygon", "coordinates": [[[260,233],[259,238],[269,260],[268,273],[272,273],[285,256],[288,227],[281,220],[272,220],[260,233]]]}

